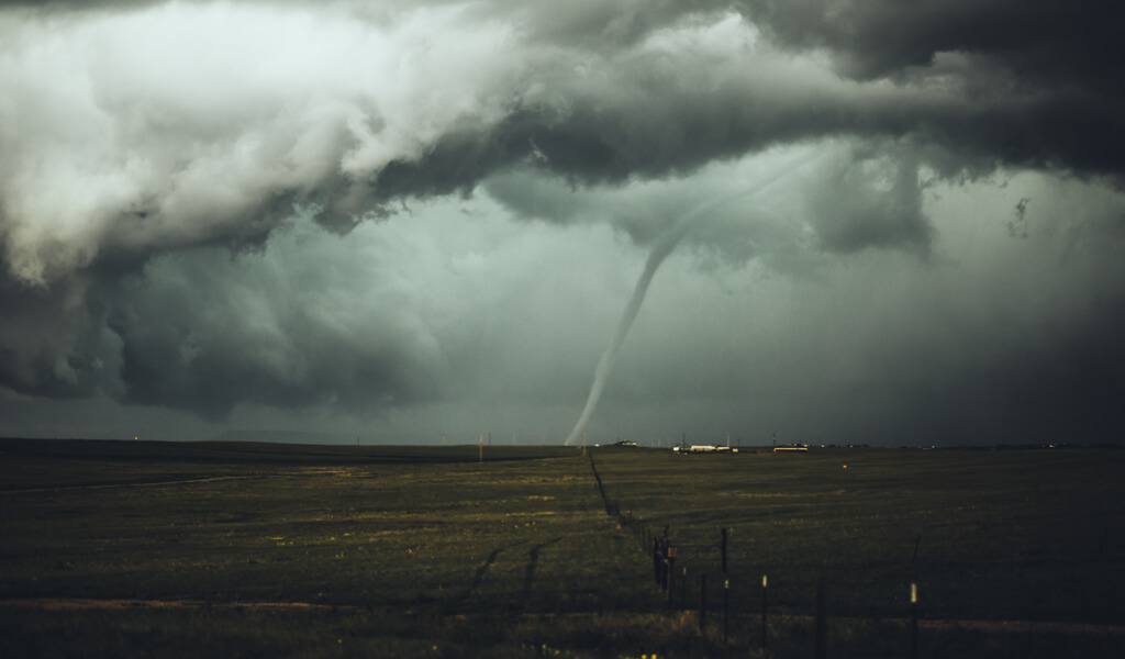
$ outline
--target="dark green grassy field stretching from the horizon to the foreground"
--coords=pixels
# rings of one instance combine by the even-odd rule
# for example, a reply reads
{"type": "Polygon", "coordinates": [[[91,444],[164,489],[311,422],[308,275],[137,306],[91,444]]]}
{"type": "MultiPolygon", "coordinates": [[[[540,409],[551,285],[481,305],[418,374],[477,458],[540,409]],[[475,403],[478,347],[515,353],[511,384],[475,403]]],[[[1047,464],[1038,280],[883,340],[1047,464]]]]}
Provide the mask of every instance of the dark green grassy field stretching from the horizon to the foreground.
{"type": "Polygon", "coordinates": [[[0,441],[0,655],[811,657],[821,577],[830,657],[909,656],[910,583],[920,657],[1125,649],[1125,451],[484,455],[0,441]]]}

